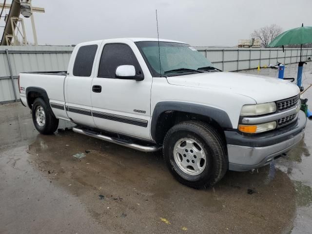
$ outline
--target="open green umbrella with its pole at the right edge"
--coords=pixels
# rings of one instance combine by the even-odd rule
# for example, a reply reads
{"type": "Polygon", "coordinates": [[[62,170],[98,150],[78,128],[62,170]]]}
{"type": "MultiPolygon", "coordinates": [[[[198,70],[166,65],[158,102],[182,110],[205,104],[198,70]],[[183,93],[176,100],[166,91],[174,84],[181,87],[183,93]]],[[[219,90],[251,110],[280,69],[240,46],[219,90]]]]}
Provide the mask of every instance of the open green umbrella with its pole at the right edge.
{"type": "Polygon", "coordinates": [[[279,47],[284,45],[301,45],[300,46],[300,61],[301,61],[301,52],[302,45],[312,43],[312,27],[302,26],[299,28],[293,28],[288,30],[275,39],[273,39],[268,47],[279,47]]]}

